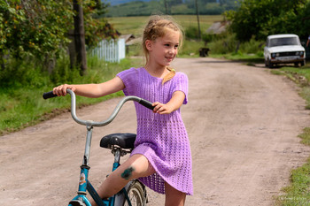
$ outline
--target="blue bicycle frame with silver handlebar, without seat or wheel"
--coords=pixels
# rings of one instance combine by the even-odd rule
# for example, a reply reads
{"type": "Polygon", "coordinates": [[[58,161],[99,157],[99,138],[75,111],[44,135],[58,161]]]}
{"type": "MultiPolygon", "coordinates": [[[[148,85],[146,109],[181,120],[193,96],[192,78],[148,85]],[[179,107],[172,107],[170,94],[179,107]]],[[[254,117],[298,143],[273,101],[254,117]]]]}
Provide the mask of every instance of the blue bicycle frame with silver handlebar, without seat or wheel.
{"type": "MultiPolygon", "coordinates": [[[[128,101],[136,101],[137,103],[142,104],[143,106],[153,109],[153,106],[150,102],[143,100],[142,98],[139,98],[137,96],[129,95],[124,97],[120,103],[115,107],[114,111],[112,111],[112,114],[109,118],[107,118],[105,121],[102,122],[96,122],[92,120],[81,120],[76,116],[76,97],[74,92],[71,89],[66,89],[67,93],[71,95],[71,115],[72,118],[74,118],[74,121],[79,123],[80,125],[86,126],[87,128],[87,135],[86,135],[86,144],[85,144],[85,152],[81,164],[81,174],[80,174],[80,181],[79,181],[79,190],[77,192],[78,195],[74,197],[74,199],[69,202],[69,206],[91,206],[88,198],[86,197],[87,191],[89,192],[89,195],[93,197],[95,202],[97,202],[98,206],[114,206],[116,201],[123,202],[124,198],[127,199],[129,206],[131,206],[131,202],[129,200],[128,194],[127,194],[127,188],[129,187],[130,183],[126,187],[124,187],[120,193],[113,195],[108,200],[101,200],[99,195],[97,195],[96,190],[89,182],[89,152],[90,152],[90,144],[91,144],[91,138],[92,138],[92,131],[93,126],[106,126],[112,122],[112,120],[116,117],[116,115],[119,113],[121,107],[124,103],[128,101]]],[[[44,99],[55,97],[57,95],[53,95],[52,92],[45,93],[43,95],[44,99]]],[[[120,166],[120,156],[121,152],[123,150],[120,148],[114,149],[114,163],[112,166],[112,171],[116,170],[120,166]]]]}

